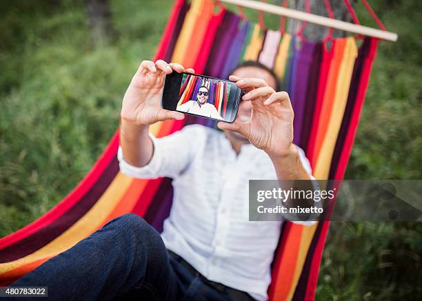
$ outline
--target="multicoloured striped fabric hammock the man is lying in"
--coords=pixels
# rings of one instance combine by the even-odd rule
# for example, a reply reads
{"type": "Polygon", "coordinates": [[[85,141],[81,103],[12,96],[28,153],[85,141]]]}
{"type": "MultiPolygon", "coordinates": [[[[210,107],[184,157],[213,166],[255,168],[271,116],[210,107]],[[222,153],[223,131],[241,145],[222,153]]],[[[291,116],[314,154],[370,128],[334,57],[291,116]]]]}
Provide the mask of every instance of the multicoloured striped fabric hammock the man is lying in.
{"type": "MultiPolygon", "coordinates": [[[[272,68],[294,107],[294,142],[310,159],[317,179],[341,179],[352,149],[368,87],[377,40],[352,37],[325,43],[261,28],[210,0],[174,3],[155,59],[193,67],[196,73],[228,76],[238,63],[272,68]]],[[[183,125],[214,121],[187,116],[152,125],[157,137],[183,125]]],[[[0,239],[0,286],[69,249],[106,222],[132,212],[158,231],[172,204],[168,178],[141,180],[119,172],[118,132],[81,183],[58,205],[19,231],[0,239]]],[[[313,300],[329,222],[312,227],[285,222],[272,262],[270,300],[313,300]]]]}

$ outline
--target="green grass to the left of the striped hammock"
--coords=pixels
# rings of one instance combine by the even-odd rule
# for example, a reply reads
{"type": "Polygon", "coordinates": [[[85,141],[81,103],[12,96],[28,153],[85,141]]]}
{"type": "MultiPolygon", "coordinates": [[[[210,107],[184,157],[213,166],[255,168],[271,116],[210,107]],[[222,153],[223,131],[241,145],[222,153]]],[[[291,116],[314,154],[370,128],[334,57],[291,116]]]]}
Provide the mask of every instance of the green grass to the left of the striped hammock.
{"type": "Polygon", "coordinates": [[[114,37],[94,47],[81,5],[21,4],[0,21],[0,236],[50,209],[88,172],[171,8],[170,1],[113,2],[114,37]]]}

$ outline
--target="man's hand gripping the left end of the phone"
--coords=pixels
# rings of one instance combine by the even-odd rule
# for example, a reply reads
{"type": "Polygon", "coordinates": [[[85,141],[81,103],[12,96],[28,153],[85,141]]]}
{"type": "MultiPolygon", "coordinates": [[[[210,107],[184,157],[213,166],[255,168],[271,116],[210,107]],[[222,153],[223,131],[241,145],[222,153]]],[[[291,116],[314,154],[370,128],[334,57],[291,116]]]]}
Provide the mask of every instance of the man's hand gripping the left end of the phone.
{"type": "Polygon", "coordinates": [[[121,108],[122,123],[131,125],[151,125],[157,121],[168,119],[183,119],[180,112],[164,110],[161,107],[161,89],[164,85],[165,74],[176,72],[194,72],[185,70],[177,63],[143,61],[134,74],[132,81],[123,98],[121,108]]]}

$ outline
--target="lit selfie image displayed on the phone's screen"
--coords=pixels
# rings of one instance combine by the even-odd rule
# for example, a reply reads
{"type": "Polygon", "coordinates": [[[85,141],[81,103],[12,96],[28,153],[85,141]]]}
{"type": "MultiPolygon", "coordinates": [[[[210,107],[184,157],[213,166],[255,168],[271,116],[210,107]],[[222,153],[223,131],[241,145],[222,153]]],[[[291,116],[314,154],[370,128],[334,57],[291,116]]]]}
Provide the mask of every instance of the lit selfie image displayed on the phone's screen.
{"type": "Polygon", "coordinates": [[[230,120],[235,114],[237,89],[230,81],[183,74],[176,110],[221,121],[230,120]]]}

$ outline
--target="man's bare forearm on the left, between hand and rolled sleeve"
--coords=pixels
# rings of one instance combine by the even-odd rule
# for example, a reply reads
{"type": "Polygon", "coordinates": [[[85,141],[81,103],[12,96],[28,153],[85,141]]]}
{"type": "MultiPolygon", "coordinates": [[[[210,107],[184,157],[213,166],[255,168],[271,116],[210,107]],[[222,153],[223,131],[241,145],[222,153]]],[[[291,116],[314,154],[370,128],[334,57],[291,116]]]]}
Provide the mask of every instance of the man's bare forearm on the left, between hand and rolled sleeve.
{"type": "Polygon", "coordinates": [[[120,145],[125,161],[135,167],[147,165],[154,153],[154,144],[148,134],[148,125],[133,125],[122,120],[120,145]]]}

